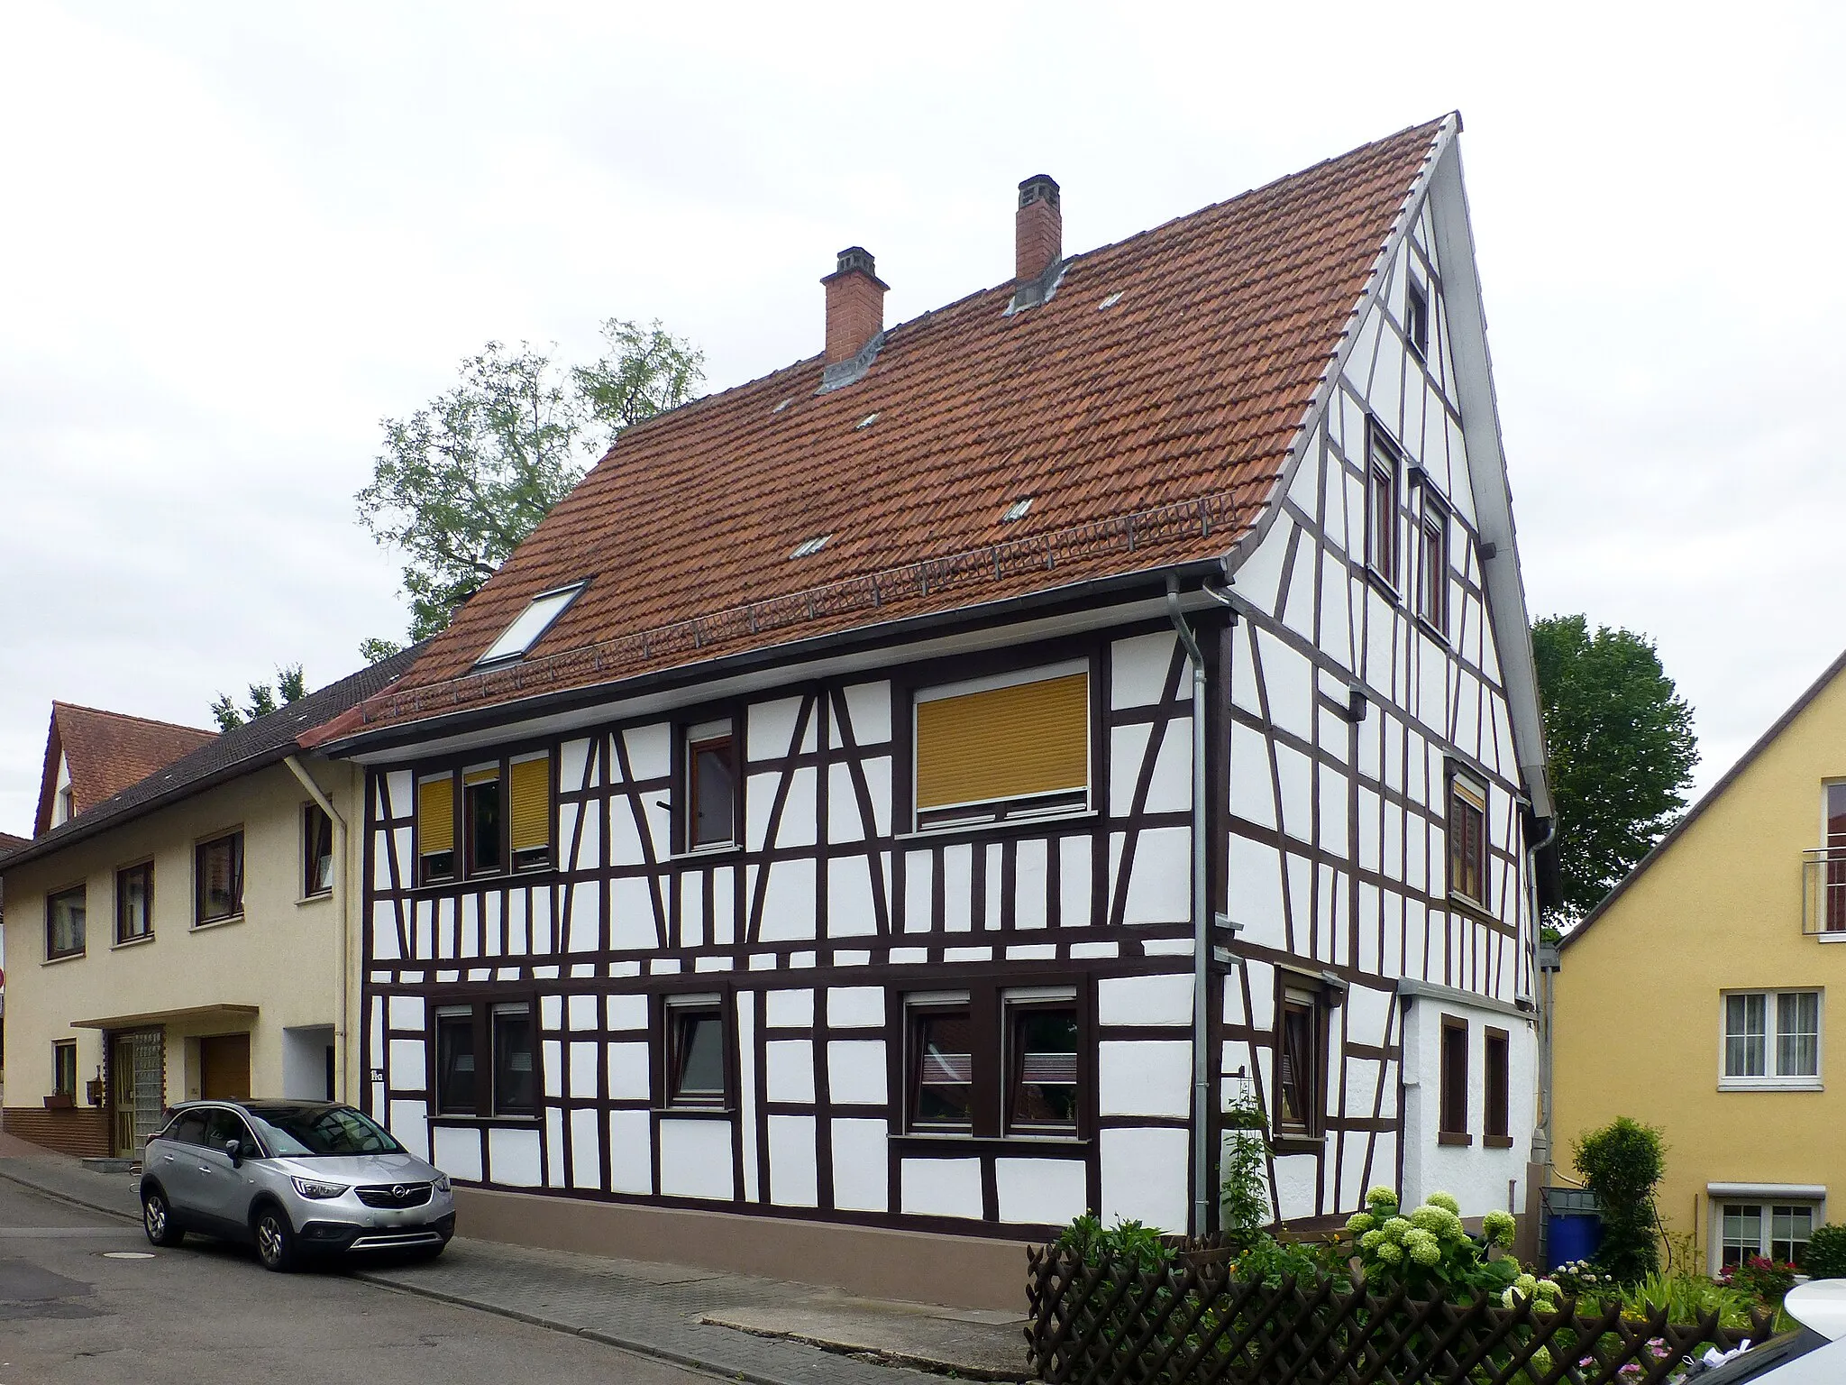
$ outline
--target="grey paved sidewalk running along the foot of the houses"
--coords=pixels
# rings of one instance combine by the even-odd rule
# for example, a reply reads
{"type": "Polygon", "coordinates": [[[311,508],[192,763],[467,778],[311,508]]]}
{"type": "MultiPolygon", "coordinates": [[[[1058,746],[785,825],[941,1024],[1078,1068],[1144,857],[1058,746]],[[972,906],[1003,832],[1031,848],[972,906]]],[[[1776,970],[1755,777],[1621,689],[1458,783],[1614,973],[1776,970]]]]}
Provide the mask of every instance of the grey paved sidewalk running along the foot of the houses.
{"type": "MultiPolygon", "coordinates": [[[[90,1173],[7,1136],[0,1136],[0,1178],[140,1221],[131,1174],[90,1173]]],[[[380,1263],[353,1274],[751,1385],[927,1385],[908,1367],[1025,1379],[1023,1322],[1004,1313],[864,1300],[810,1283],[467,1237],[428,1265],[380,1263]]],[[[1023,1263],[1019,1278],[1023,1298],[1023,1263]]]]}

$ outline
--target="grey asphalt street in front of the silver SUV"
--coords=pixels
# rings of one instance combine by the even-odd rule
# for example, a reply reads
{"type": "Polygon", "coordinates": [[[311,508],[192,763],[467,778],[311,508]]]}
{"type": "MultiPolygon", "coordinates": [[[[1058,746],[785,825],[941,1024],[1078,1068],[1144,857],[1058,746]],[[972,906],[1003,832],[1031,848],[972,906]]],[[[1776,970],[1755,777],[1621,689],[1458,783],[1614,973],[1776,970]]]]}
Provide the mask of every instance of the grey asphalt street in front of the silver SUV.
{"type": "Polygon", "coordinates": [[[270,1274],[188,1237],[0,1182],[0,1385],[506,1385],[713,1379],[613,1346],[430,1302],[338,1269],[270,1274]]]}

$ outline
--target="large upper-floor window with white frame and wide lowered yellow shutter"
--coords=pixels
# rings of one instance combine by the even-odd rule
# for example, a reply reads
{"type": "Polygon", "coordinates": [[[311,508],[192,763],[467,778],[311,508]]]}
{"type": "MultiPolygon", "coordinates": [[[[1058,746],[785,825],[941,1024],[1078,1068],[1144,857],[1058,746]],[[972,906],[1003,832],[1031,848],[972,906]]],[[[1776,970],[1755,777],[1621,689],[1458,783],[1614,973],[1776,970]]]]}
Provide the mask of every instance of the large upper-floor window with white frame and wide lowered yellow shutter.
{"type": "Polygon", "coordinates": [[[1089,807],[1089,665],[916,694],[916,825],[1089,807]]]}

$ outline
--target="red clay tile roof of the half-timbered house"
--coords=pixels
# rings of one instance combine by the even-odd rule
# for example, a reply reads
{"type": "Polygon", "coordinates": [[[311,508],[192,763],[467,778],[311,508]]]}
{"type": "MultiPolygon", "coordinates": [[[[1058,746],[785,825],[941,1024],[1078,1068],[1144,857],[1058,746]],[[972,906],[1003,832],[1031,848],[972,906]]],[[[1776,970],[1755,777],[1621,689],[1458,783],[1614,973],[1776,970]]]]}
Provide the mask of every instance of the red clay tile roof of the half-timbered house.
{"type": "Polygon", "coordinates": [[[1226,554],[1451,126],[1073,257],[1041,307],[1006,316],[1008,281],[893,327],[833,393],[814,356],[629,428],[367,729],[1226,554]],[[469,672],[583,580],[526,659],[469,672]]]}

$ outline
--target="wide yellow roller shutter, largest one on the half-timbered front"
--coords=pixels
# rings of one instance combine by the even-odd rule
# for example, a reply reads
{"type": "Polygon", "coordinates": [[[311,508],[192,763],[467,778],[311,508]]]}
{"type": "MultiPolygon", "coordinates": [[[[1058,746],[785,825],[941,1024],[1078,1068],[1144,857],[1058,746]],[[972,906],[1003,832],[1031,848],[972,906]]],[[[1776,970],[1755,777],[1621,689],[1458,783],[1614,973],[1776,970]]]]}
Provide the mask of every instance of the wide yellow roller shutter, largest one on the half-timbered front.
{"type": "Polygon", "coordinates": [[[917,702],[917,807],[1089,787],[1089,674],[917,702]]]}

